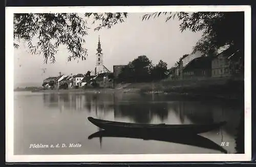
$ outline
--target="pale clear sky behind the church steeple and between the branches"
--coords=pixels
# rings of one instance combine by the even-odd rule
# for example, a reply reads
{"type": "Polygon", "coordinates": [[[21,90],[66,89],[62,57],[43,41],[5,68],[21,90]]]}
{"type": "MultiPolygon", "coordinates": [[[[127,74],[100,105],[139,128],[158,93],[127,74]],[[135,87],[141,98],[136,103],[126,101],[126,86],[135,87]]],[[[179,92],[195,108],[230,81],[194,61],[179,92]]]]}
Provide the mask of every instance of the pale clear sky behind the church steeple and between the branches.
{"type": "Polygon", "coordinates": [[[111,29],[94,31],[96,25],[89,22],[84,47],[88,50],[87,60],[68,62],[66,46],[59,47],[55,63],[44,63],[42,55],[32,55],[24,43],[14,49],[14,87],[40,86],[44,79],[61,74],[86,74],[96,65],[96,49],[100,35],[103,64],[111,71],[113,65],[125,65],[141,55],[146,55],[153,64],[163,60],[168,68],[174,66],[184,54],[190,54],[201,38],[202,32],[189,30],[181,33],[178,19],[165,22],[165,17],[144,20],[146,13],[129,13],[125,22],[111,29]]]}

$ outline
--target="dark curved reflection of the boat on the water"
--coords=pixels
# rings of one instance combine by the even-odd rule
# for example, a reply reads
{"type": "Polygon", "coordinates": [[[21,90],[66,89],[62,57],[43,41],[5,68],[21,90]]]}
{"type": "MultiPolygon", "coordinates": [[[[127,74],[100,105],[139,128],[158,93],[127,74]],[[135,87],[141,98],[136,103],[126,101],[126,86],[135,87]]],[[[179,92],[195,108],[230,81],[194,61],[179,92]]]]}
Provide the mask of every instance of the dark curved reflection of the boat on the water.
{"type": "MultiPolygon", "coordinates": [[[[188,145],[188,146],[195,146],[205,149],[211,149],[211,150],[217,150],[221,151],[222,153],[227,153],[227,151],[222,148],[220,145],[218,145],[216,142],[200,136],[198,134],[192,134],[192,135],[147,135],[143,136],[143,134],[134,134],[134,133],[116,133],[114,131],[107,131],[107,130],[101,130],[98,132],[95,132],[91,134],[88,139],[92,138],[103,138],[103,137],[121,137],[121,138],[135,138],[135,139],[143,139],[143,140],[156,140],[156,141],[165,141],[165,142],[172,142],[176,144],[182,144],[182,145],[188,145]]],[[[100,140],[101,142],[101,140],[100,140]]],[[[172,152],[170,150],[170,152],[172,152]]]]}

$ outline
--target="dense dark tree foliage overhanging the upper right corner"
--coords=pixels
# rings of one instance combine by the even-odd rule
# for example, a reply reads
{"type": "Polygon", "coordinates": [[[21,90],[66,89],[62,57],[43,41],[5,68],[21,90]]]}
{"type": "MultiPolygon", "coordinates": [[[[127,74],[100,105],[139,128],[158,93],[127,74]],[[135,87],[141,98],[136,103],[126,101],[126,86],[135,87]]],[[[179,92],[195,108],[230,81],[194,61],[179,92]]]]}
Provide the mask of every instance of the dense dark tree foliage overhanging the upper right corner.
{"type": "MultiPolygon", "coordinates": [[[[178,17],[181,20],[180,30],[193,32],[202,31],[202,38],[194,46],[194,52],[200,51],[211,55],[226,44],[244,53],[244,12],[156,12],[146,14],[142,20],[166,15],[166,20],[178,17]]],[[[244,64],[244,54],[241,54],[240,66],[244,64]]],[[[243,67],[241,68],[243,71],[243,67]]]]}

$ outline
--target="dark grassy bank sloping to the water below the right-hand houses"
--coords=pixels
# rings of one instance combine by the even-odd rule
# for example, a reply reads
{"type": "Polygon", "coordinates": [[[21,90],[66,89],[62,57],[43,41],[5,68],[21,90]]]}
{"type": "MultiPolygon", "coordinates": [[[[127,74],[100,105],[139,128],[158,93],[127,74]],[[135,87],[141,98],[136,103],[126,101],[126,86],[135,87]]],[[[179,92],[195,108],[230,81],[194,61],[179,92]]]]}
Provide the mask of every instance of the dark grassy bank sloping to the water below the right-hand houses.
{"type": "Polygon", "coordinates": [[[191,96],[219,97],[226,99],[244,98],[244,81],[227,79],[159,81],[132,83],[127,89],[137,88],[141,93],[179,93],[191,96]]]}

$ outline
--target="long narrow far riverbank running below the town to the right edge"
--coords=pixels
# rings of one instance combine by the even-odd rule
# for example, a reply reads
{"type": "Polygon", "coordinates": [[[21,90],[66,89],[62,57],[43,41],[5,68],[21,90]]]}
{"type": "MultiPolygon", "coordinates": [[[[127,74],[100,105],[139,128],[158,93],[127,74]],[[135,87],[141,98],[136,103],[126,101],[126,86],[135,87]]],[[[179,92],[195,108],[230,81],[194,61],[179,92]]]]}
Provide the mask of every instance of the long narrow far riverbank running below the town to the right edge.
{"type": "Polygon", "coordinates": [[[227,79],[158,81],[151,83],[125,83],[115,88],[79,88],[59,90],[32,90],[57,93],[142,93],[173,94],[200,98],[243,99],[244,81],[227,79]]]}

